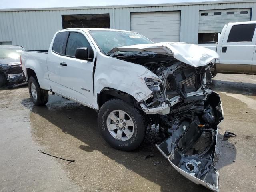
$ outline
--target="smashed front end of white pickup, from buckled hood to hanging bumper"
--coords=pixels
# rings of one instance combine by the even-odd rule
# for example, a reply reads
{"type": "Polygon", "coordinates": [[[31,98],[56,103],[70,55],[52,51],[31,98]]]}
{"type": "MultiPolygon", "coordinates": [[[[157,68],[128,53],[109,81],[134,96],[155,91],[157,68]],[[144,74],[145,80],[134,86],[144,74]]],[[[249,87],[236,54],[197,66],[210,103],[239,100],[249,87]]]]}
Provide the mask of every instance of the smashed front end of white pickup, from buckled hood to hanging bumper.
{"type": "Polygon", "coordinates": [[[158,76],[144,78],[152,92],[139,102],[164,138],[156,147],[186,178],[218,191],[213,161],[223,112],[219,95],[206,86],[212,79],[211,61],[218,54],[182,43],[126,46],[110,54],[158,76]]]}

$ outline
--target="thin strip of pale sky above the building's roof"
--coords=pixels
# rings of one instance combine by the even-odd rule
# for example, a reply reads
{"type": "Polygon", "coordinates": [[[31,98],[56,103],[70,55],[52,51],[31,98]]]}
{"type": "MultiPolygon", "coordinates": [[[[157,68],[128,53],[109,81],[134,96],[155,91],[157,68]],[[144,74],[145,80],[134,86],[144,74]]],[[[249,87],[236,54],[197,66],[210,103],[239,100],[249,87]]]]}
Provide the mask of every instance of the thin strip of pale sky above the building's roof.
{"type": "Polygon", "coordinates": [[[213,0],[0,0],[0,9],[159,4],[199,1],[213,0]]]}

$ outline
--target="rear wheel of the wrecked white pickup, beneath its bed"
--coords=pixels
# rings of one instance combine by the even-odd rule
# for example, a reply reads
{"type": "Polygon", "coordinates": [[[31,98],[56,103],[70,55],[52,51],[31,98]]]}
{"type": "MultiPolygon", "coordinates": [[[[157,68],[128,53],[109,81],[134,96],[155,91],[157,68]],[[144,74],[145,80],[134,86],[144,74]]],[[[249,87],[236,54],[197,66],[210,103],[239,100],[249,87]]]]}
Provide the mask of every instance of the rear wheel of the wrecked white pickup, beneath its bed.
{"type": "Polygon", "coordinates": [[[28,90],[29,90],[30,98],[36,106],[43,106],[48,102],[48,98],[49,98],[48,90],[44,90],[40,88],[40,85],[36,77],[29,78],[28,90]],[[36,90],[36,92],[34,90],[36,90]]]}

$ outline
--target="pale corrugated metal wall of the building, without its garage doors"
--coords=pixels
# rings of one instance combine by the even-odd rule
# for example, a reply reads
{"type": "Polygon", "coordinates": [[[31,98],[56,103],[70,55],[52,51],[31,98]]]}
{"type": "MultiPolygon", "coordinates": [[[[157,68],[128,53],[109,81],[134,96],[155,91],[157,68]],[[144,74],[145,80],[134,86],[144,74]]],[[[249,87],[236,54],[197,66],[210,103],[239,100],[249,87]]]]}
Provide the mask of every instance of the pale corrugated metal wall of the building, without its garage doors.
{"type": "Polygon", "coordinates": [[[110,28],[131,30],[131,13],[180,11],[180,41],[198,42],[200,10],[251,8],[256,20],[256,2],[204,2],[151,4],[137,6],[102,6],[94,8],[49,8],[0,10],[0,42],[12,41],[29,50],[48,49],[52,36],[62,29],[62,14],[110,14],[110,28]]]}

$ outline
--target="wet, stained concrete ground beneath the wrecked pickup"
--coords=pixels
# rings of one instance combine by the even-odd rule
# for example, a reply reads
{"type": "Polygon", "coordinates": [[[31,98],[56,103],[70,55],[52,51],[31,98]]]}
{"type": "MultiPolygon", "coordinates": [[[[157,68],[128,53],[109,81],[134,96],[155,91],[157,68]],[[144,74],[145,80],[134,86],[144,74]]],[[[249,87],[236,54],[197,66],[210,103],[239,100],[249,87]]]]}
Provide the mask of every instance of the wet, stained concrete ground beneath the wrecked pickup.
{"type": "MultiPolygon", "coordinates": [[[[224,108],[215,156],[220,191],[256,191],[256,76],[218,74],[212,88],[224,108]],[[237,137],[223,139],[225,130],[237,137]]],[[[156,130],[138,150],[122,152],[106,144],[96,121],[94,110],[60,96],[36,107],[27,87],[0,90],[0,191],[209,191],[170,166],[154,146],[156,130]],[[148,154],[154,157],[145,160],[148,154]]]]}

